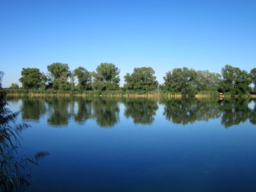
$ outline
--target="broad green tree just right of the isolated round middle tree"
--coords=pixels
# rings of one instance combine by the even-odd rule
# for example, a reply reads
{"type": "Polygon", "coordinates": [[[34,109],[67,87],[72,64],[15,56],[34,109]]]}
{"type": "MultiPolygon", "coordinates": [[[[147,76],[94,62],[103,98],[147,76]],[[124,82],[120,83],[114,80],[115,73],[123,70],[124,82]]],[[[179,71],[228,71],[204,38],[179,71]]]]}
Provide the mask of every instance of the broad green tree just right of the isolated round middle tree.
{"type": "Polygon", "coordinates": [[[174,68],[164,77],[163,89],[167,92],[181,93],[182,97],[194,97],[197,93],[196,71],[191,68],[174,68]]]}

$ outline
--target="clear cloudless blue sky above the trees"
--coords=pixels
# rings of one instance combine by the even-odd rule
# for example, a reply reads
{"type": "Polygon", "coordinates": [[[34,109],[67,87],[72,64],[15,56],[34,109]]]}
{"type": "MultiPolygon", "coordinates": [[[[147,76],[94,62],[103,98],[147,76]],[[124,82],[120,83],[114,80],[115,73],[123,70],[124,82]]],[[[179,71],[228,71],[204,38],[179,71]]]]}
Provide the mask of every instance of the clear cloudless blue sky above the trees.
{"type": "Polygon", "coordinates": [[[152,67],[157,80],[175,67],[220,72],[256,67],[256,1],[0,1],[3,86],[22,67],[53,62],[95,70],[152,67]]]}

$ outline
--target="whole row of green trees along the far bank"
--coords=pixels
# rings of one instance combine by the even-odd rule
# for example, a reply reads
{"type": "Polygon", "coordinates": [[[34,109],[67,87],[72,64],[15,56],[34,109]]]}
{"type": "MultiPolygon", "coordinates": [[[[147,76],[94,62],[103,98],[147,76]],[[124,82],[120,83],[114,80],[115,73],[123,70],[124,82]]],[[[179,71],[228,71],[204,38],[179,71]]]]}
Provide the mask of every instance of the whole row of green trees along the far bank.
{"type": "MultiPolygon", "coordinates": [[[[120,88],[120,69],[113,63],[100,63],[95,71],[84,67],[70,70],[66,63],[52,63],[47,66],[47,74],[38,68],[22,68],[19,81],[23,89],[88,91],[99,92],[124,90],[133,93],[148,93],[161,90],[166,93],[179,93],[182,96],[195,96],[201,92],[224,92],[229,95],[244,95],[256,88],[256,68],[250,72],[239,67],[225,65],[221,74],[209,70],[193,68],[173,68],[166,72],[164,83],[156,81],[151,67],[136,67],[131,74],[124,76],[124,87],[120,88]],[[253,88],[252,86],[253,85],[253,88]]],[[[19,88],[12,84],[10,88],[19,88]]]]}

